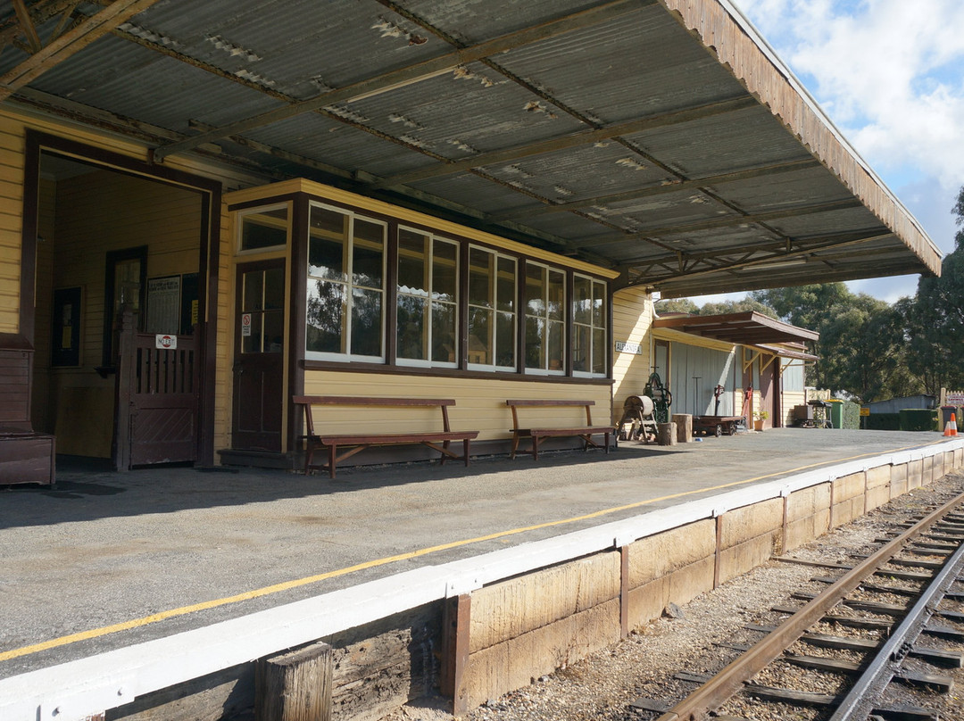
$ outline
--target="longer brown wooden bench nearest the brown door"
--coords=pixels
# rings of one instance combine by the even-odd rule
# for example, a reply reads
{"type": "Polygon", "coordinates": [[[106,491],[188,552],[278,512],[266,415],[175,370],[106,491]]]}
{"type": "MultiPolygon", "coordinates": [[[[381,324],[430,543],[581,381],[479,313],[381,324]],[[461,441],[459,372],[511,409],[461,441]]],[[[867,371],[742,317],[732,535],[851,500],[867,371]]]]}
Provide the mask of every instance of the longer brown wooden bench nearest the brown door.
{"type": "Polygon", "coordinates": [[[335,478],[335,467],[339,461],[351,458],[356,453],[372,445],[400,445],[406,443],[421,443],[442,454],[442,464],[449,458],[464,460],[469,466],[469,442],[479,435],[478,431],[453,431],[448,424],[448,407],[454,406],[455,401],[447,398],[366,398],[339,395],[296,395],[292,399],[295,404],[304,406],[305,421],[308,433],[305,439],[305,474],[312,467],[328,468],[328,473],[335,478]],[[314,418],[311,414],[312,406],[369,406],[372,408],[432,408],[442,411],[441,431],[409,431],[406,433],[355,433],[355,434],[318,434],[314,430],[314,418]],[[448,449],[452,441],[462,441],[462,455],[448,449]],[[328,448],[328,463],[324,466],[314,466],[314,451],[319,447],[328,448]],[[338,447],[347,446],[349,450],[338,455],[338,447]]]}

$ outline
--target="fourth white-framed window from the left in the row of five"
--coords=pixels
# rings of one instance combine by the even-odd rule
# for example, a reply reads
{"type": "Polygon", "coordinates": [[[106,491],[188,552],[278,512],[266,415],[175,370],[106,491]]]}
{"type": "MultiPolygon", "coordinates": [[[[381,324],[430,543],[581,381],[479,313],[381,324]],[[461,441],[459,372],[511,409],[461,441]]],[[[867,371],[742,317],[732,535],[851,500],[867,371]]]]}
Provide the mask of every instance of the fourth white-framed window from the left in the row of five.
{"type": "Polygon", "coordinates": [[[538,263],[525,264],[525,368],[565,372],[566,274],[538,263]]]}

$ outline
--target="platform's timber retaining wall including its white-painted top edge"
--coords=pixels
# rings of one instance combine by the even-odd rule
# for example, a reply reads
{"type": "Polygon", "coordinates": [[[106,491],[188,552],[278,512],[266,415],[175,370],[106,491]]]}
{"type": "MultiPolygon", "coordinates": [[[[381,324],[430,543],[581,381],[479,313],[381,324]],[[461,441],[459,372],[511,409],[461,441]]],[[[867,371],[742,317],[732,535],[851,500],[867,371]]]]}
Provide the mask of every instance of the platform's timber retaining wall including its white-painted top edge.
{"type": "Polygon", "coordinates": [[[388,576],[2,680],[0,718],[230,718],[254,706],[252,659],[317,641],[333,649],[326,718],[438,689],[464,713],[962,464],[964,440],[946,441],[388,576]]]}

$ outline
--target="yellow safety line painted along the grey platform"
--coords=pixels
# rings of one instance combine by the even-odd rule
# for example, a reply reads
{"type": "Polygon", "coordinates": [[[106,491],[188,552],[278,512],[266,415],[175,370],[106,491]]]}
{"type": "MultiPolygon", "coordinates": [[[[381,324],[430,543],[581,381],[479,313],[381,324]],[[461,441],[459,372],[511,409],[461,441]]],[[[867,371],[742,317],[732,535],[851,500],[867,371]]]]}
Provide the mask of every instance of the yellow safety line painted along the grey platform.
{"type": "Polygon", "coordinates": [[[38,644],[33,644],[31,646],[24,646],[19,649],[11,649],[10,651],[5,651],[0,653],[0,663],[3,661],[9,661],[12,658],[19,658],[25,655],[39,654],[42,651],[49,651],[50,649],[56,649],[61,646],[68,646],[78,641],[87,641],[92,638],[98,638],[100,636],[106,636],[111,633],[118,633],[123,630],[130,630],[132,628],[141,628],[149,626],[150,624],[156,624],[160,621],[166,621],[168,619],[175,618],[177,616],[186,616],[189,613],[195,613],[196,611],[205,611],[210,608],[217,608],[219,606],[230,605],[231,603],[237,603],[239,601],[251,601],[252,599],[258,599],[262,596],[271,596],[273,594],[281,593],[282,591],[288,591],[292,588],[299,588],[301,586],[308,586],[311,583],[317,583],[319,581],[328,580],[329,578],[336,578],[339,575],[353,574],[356,571],[362,571],[364,569],[377,568],[378,566],[386,566],[389,563],[394,563],[396,561],[406,561],[412,558],[418,558],[419,556],[426,556],[431,553],[438,553],[442,550],[448,550],[450,548],[457,548],[463,546],[471,546],[472,544],[482,543],[483,541],[493,541],[498,538],[505,538],[506,536],[515,536],[520,533],[525,533],[526,531],[535,531],[542,528],[551,528],[552,526],[565,525],[567,523],[575,523],[576,521],[588,521],[590,519],[597,519],[602,516],[608,516],[613,513],[618,513],[620,511],[628,511],[632,508],[640,508],[641,506],[647,506],[652,503],[658,503],[659,501],[672,500],[674,498],[682,498],[686,495],[695,494],[705,494],[708,491],[721,491],[726,488],[733,488],[734,486],[742,486],[747,483],[753,483],[755,481],[762,481],[764,478],[772,478],[773,476],[785,475],[789,473],[795,473],[801,470],[806,470],[808,468],[816,468],[819,466],[827,466],[829,464],[839,464],[846,461],[855,461],[858,458],[865,458],[867,456],[882,456],[886,453],[897,453],[902,450],[907,450],[909,448],[921,448],[926,445],[933,445],[935,443],[940,443],[943,441],[931,441],[929,443],[924,443],[923,445],[907,445],[902,448],[896,448],[891,451],[873,452],[873,453],[862,453],[858,456],[850,456],[849,458],[841,458],[834,461],[823,461],[821,463],[811,464],[809,466],[801,466],[797,468],[790,468],[789,470],[780,470],[774,473],[767,473],[766,475],[756,476],[754,478],[746,478],[742,481],[732,481],[730,483],[724,483],[719,486],[711,486],[709,488],[694,489],[692,491],[683,491],[679,494],[661,495],[657,498],[648,498],[646,500],[636,501],[634,503],[627,503],[622,506],[613,506],[612,508],[605,508],[602,511],[594,511],[593,513],[587,513],[583,516],[576,516],[572,519],[563,519],[561,521],[547,521],[545,523],[537,523],[535,525],[527,525],[522,528],[513,528],[506,531],[497,531],[496,533],[490,533],[487,536],[479,536],[477,538],[465,539],[462,541],[453,541],[448,544],[442,544],[440,546],[431,546],[427,548],[420,548],[418,550],[409,551],[407,553],[399,553],[394,556],[387,556],[386,558],[378,558],[373,561],[365,561],[364,563],[356,564],[355,566],[348,566],[347,568],[338,569],[337,571],[329,571],[326,574],[308,575],[304,578],[298,578],[295,580],[284,581],[283,583],[277,583],[273,586],[264,586],[263,588],[257,588],[253,591],[246,591],[242,594],[237,594],[235,596],[227,596],[223,599],[214,599],[212,601],[202,601],[201,603],[192,603],[191,605],[181,606],[180,608],[172,608],[167,611],[161,611],[160,613],[153,613],[149,616],[144,616],[139,619],[132,619],[130,621],[124,621],[120,624],[113,624],[111,626],[105,626],[102,628],[92,628],[86,631],[80,631],[78,633],[70,633],[66,636],[60,636],[59,638],[52,638],[49,641],[43,641],[38,644]]]}

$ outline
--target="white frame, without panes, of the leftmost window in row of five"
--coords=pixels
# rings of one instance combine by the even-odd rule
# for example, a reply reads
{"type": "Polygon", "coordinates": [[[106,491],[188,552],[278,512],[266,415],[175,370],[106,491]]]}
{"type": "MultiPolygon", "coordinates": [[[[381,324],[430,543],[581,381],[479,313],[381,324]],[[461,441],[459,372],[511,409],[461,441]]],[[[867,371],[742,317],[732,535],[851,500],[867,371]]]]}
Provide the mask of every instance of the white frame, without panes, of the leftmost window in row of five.
{"type": "MultiPolygon", "coordinates": [[[[306,318],[305,318],[305,360],[321,360],[321,361],[331,361],[339,363],[386,363],[388,359],[388,296],[389,287],[391,282],[388,278],[388,243],[390,239],[390,226],[386,219],[374,217],[372,215],[366,215],[359,213],[350,208],[339,207],[327,202],[322,202],[320,200],[308,200],[308,237],[306,240],[307,247],[305,249],[305,270],[307,276],[307,283],[305,288],[305,305],[306,305],[306,318]],[[310,257],[311,257],[311,209],[314,207],[319,207],[324,210],[332,211],[335,213],[340,213],[341,215],[348,217],[348,231],[347,238],[345,239],[346,245],[342,247],[342,262],[344,268],[342,275],[345,280],[333,280],[328,278],[321,278],[319,276],[312,276],[310,270],[310,257]],[[382,235],[382,287],[373,288],[366,285],[358,285],[353,276],[354,262],[355,262],[355,221],[356,219],[361,219],[366,223],[371,223],[373,225],[381,226],[383,228],[382,235]],[[341,325],[341,332],[344,335],[344,342],[347,351],[345,352],[333,352],[333,351],[313,351],[308,349],[308,285],[312,281],[322,281],[327,283],[332,283],[335,285],[340,285],[344,288],[344,298],[345,302],[343,305],[343,318],[341,325]],[[352,353],[351,342],[352,342],[352,320],[353,320],[353,299],[355,288],[358,287],[362,290],[370,291],[377,290],[382,296],[382,313],[381,313],[381,324],[380,324],[380,340],[382,352],[378,356],[366,356],[362,354],[352,353]]],[[[394,300],[394,293],[391,293],[391,300],[394,300]]],[[[397,361],[396,361],[397,362],[397,361]]]]}

